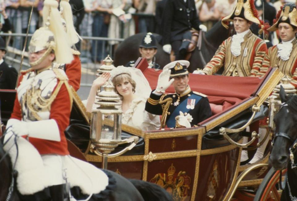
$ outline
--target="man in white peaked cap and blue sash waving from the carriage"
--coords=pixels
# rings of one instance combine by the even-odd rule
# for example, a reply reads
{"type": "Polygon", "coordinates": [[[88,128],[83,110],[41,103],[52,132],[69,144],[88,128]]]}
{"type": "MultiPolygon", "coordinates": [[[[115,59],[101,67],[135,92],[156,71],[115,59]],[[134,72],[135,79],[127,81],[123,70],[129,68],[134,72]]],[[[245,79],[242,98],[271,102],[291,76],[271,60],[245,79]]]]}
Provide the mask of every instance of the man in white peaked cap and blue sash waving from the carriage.
{"type": "Polygon", "coordinates": [[[162,115],[162,128],[165,125],[168,128],[192,127],[212,115],[207,96],[192,91],[188,85],[189,65],[190,62],[180,60],[164,66],[158,78],[157,88],[146,102],[146,111],[162,115]],[[171,84],[175,93],[164,94],[171,84]]]}

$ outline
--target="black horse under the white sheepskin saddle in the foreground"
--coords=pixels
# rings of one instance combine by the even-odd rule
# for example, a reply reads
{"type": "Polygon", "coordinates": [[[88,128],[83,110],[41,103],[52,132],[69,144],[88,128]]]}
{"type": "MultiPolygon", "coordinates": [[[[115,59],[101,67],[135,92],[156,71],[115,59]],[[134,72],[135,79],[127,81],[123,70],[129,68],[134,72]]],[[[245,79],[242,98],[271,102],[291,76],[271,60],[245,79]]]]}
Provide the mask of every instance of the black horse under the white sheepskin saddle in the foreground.
{"type": "MultiPolygon", "coordinates": [[[[0,140],[1,141],[1,140],[0,140]]],[[[14,160],[17,160],[14,159],[14,160]]],[[[0,200],[1,201],[19,201],[32,200],[28,197],[19,195],[16,189],[16,176],[17,173],[13,172],[11,159],[8,154],[3,150],[3,144],[0,142],[0,200]]],[[[141,180],[128,180],[121,175],[112,171],[106,171],[105,173],[113,178],[113,184],[104,194],[94,195],[90,200],[94,201],[171,201],[173,200],[170,195],[160,186],[156,184],[144,182],[141,180]]],[[[75,192],[77,189],[71,189],[71,192],[75,192]]],[[[38,192],[41,194],[41,192],[38,192]]],[[[46,193],[42,194],[42,198],[46,201],[51,201],[49,196],[45,196],[46,193]]],[[[40,197],[40,196],[39,196],[40,197]]],[[[84,198],[85,199],[85,198],[84,198]]],[[[41,199],[43,200],[43,199],[41,199]]]]}

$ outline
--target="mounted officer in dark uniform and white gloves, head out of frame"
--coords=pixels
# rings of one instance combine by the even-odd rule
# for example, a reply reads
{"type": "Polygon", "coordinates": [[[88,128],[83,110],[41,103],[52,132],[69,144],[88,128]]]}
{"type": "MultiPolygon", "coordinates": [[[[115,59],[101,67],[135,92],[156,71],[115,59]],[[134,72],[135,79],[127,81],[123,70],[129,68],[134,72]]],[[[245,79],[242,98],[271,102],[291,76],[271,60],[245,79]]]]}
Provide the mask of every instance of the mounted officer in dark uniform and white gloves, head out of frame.
{"type": "Polygon", "coordinates": [[[174,51],[175,60],[184,59],[191,40],[192,28],[199,30],[199,19],[194,0],[167,0],[162,15],[163,50],[174,51]],[[184,40],[187,39],[187,40],[184,40]],[[181,48],[183,44],[183,47],[181,48]]]}

